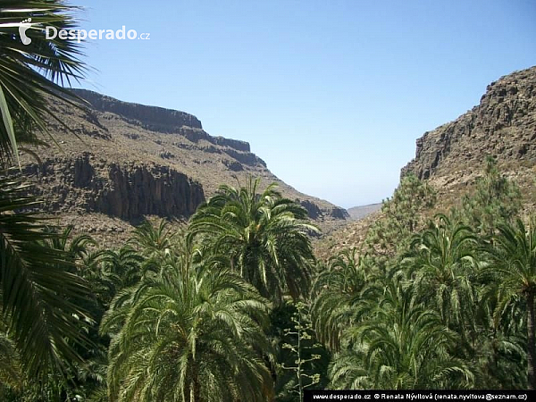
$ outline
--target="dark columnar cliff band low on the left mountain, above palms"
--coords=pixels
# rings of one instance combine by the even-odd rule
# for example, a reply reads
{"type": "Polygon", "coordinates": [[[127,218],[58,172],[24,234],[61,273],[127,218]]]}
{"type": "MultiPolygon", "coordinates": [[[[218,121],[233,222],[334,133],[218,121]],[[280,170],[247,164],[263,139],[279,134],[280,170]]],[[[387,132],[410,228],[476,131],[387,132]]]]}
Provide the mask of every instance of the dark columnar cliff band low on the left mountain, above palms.
{"type": "Polygon", "coordinates": [[[102,213],[123,220],[144,215],[188,217],[205,201],[201,185],[167,166],[108,163],[85,153],[28,164],[48,212],[102,213]]]}

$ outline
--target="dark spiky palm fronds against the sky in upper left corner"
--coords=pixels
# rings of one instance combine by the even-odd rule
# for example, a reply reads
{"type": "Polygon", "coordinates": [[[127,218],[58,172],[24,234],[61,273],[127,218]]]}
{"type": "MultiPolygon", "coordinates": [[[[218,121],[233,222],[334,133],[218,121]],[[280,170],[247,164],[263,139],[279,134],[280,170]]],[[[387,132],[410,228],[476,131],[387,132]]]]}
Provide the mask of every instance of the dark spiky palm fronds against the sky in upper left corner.
{"type": "Polygon", "coordinates": [[[86,66],[80,43],[46,39],[43,33],[46,26],[76,28],[71,15],[76,7],[62,0],[4,0],[0,7],[0,162],[6,164],[18,161],[19,143],[43,144],[37,133],[50,136],[46,119],[61,123],[46,99],[75,105],[62,85],[83,78],[86,66]],[[22,43],[22,20],[28,21],[27,44],[22,43]]]}

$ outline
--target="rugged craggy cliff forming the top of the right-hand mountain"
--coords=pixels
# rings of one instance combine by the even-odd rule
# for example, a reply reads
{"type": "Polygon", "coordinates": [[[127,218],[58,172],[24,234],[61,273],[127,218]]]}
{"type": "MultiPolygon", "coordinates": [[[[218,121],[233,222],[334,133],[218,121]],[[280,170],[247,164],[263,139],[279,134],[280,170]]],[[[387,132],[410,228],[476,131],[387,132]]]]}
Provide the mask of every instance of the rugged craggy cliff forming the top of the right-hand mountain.
{"type": "Polygon", "coordinates": [[[492,82],[480,105],[416,143],[415,159],[402,176],[463,175],[486,155],[497,156],[499,163],[536,163],[536,67],[492,82]]]}

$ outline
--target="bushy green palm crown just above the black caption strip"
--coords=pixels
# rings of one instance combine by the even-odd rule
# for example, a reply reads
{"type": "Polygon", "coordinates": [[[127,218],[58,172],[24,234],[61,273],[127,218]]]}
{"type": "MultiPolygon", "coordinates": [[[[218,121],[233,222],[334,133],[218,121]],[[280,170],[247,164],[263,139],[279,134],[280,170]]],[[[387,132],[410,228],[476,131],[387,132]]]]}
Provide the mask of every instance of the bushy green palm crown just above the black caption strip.
{"type": "Polygon", "coordinates": [[[456,333],[397,281],[385,289],[373,316],[345,337],[347,347],[331,365],[335,388],[449,389],[473,383],[468,365],[449,353],[456,333]]]}

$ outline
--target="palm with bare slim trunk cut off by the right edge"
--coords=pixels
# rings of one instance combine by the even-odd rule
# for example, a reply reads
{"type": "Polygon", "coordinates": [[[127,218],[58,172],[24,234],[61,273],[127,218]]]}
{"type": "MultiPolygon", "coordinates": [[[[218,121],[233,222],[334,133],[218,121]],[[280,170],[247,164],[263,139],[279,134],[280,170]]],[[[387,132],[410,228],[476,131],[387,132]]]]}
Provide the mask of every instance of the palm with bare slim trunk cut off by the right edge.
{"type": "Polygon", "coordinates": [[[491,261],[482,274],[493,280],[497,297],[495,320],[500,323],[502,316],[511,314],[513,309],[524,312],[528,384],[530,389],[536,389],[536,219],[532,218],[528,228],[520,219],[515,224],[499,225],[489,252],[491,261]]]}

